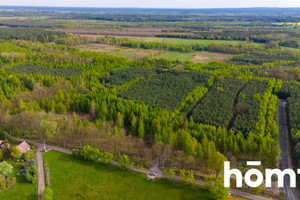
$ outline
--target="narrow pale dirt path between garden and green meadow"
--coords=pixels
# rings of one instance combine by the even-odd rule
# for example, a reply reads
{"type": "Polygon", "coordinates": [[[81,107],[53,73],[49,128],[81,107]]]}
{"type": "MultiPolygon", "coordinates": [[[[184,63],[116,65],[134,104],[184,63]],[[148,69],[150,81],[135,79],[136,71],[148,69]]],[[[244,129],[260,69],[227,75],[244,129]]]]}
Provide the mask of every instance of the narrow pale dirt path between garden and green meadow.
{"type": "Polygon", "coordinates": [[[36,163],[38,168],[38,200],[43,199],[43,191],[45,189],[43,146],[38,146],[36,151],[36,163]]]}

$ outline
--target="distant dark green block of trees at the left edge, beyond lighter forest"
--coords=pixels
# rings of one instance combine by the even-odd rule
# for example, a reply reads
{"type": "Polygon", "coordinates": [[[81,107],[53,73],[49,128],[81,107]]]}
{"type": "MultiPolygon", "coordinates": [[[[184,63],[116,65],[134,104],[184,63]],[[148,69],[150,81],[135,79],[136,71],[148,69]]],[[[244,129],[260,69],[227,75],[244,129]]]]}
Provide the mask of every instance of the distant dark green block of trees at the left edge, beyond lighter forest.
{"type": "Polygon", "coordinates": [[[40,28],[0,28],[0,38],[6,40],[53,42],[63,37],[66,37],[64,32],[48,31],[40,28]]]}

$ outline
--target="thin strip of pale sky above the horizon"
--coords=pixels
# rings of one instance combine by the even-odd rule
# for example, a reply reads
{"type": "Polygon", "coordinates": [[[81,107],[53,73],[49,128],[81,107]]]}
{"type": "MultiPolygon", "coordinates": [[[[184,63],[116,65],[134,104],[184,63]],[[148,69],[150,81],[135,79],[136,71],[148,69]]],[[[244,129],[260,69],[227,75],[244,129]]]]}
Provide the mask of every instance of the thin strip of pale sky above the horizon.
{"type": "Polygon", "coordinates": [[[0,5],[117,8],[244,8],[300,7],[300,0],[0,0],[0,5]]]}

